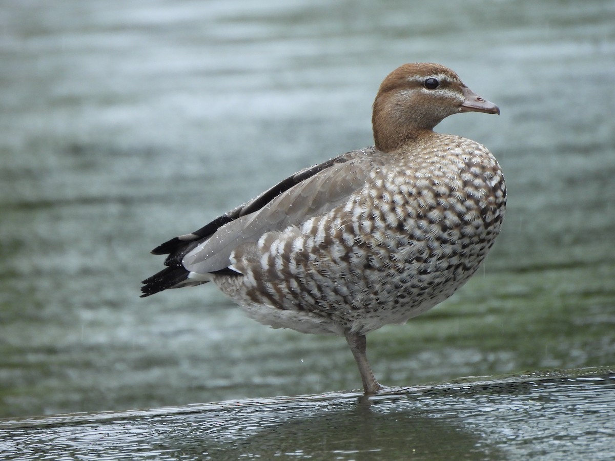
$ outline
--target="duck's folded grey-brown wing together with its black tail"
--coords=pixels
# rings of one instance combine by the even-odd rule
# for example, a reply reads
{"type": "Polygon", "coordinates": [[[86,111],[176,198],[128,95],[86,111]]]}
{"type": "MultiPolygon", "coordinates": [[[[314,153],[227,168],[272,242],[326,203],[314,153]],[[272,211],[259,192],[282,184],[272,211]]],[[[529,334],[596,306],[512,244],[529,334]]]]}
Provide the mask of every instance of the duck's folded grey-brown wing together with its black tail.
{"type": "Polygon", "coordinates": [[[168,267],[143,281],[141,296],[200,285],[210,280],[209,274],[240,275],[229,269],[237,245],[257,242],[270,230],[298,226],[346,202],[381,164],[375,154],[375,148],[365,148],[305,168],[199,230],[157,246],[152,253],[169,254],[164,262],[168,267]]]}

